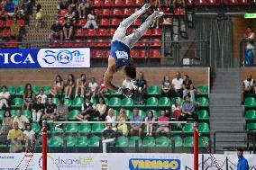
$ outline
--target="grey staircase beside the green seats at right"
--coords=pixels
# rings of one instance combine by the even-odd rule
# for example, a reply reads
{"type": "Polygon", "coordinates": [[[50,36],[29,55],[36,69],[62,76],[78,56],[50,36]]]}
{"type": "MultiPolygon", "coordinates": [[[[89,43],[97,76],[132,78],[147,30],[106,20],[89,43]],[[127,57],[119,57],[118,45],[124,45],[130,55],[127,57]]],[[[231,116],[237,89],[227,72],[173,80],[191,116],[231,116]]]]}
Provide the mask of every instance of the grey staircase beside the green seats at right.
{"type": "MultiPolygon", "coordinates": [[[[216,68],[211,77],[212,90],[210,94],[210,122],[212,131],[242,131],[240,69],[216,68]]],[[[244,147],[245,136],[240,134],[218,134],[216,149],[244,147]],[[228,142],[231,141],[231,142],[228,142]]],[[[212,134],[212,142],[214,141],[212,134]]]]}

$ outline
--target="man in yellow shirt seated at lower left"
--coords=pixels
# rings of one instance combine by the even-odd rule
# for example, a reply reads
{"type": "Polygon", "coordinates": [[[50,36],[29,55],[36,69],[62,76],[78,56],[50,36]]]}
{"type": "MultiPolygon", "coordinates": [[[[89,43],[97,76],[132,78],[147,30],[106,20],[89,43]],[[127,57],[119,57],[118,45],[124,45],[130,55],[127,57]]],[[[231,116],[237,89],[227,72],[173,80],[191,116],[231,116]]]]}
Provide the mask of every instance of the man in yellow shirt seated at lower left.
{"type": "Polygon", "coordinates": [[[23,150],[23,131],[19,130],[18,122],[14,121],[14,129],[10,130],[7,135],[7,140],[10,143],[10,153],[16,153],[23,150]]]}

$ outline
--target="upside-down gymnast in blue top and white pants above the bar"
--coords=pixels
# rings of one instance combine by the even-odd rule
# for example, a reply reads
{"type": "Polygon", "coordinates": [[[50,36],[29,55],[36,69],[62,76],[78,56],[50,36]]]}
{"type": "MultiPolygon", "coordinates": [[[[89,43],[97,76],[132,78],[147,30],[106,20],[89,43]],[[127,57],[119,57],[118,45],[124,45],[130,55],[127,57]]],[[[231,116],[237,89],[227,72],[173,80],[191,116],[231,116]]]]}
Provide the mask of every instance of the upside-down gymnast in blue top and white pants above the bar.
{"type": "Polygon", "coordinates": [[[108,58],[108,67],[104,76],[105,86],[111,91],[118,91],[120,93],[127,92],[123,92],[123,89],[125,89],[125,87],[118,88],[112,84],[113,75],[117,71],[121,72],[126,80],[131,80],[131,82],[133,83],[133,88],[136,88],[136,85],[134,85],[134,80],[136,78],[136,68],[133,67],[131,63],[130,50],[151,26],[151,23],[155,20],[155,18],[162,16],[163,13],[159,11],[154,11],[154,13],[152,13],[146,19],[146,21],[142,23],[140,28],[138,28],[132,34],[126,35],[126,31],[128,27],[140,15],[142,15],[142,13],[145,13],[147,9],[150,8],[150,6],[151,4],[144,4],[140,10],[136,11],[131,16],[123,20],[123,22],[119,24],[119,27],[114,32],[113,40],[111,42],[110,56],[108,58]]]}

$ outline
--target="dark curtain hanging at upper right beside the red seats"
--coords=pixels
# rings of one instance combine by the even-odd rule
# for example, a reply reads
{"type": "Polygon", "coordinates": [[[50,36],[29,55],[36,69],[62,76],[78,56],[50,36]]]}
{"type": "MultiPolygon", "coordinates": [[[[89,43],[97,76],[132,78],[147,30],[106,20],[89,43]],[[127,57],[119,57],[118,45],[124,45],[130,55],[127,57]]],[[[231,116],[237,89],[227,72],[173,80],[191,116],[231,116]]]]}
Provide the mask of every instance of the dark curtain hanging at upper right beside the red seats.
{"type": "Polygon", "coordinates": [[[210,67],[233,67],[232,19],[196,16],[195,27],[196,40],[209,41],[208,55],[198,50],[197,56],[210,67]]]}

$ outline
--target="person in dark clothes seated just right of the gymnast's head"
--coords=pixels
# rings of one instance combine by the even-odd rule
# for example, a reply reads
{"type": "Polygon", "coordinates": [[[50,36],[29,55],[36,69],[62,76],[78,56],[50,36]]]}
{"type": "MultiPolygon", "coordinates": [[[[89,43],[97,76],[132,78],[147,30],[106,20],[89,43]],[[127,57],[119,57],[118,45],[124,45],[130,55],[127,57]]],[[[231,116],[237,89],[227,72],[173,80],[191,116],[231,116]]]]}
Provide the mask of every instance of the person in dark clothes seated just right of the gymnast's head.
{"type": "Polygon", "coordinates": [[[135,91],[134,103],[143,104],[147,94],[147,81],[144,79],[143,73],[139,73],[139,79],[137,81],[138,90],[135,91]]]}

